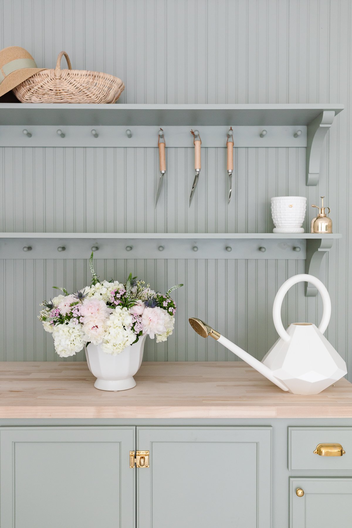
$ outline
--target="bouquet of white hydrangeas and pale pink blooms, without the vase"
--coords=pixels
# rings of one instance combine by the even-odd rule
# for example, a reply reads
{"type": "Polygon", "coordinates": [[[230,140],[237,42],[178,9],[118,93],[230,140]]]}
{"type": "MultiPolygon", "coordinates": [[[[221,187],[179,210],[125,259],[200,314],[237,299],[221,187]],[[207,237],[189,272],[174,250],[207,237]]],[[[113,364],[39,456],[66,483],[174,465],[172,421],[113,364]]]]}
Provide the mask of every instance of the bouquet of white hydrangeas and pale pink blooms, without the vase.
{"type": "Polygon", "coordinates": [[[39,319],[46,332],[53,335],[55,351],[68,357],[89,343],[101,345],[107,354],[117,355],[146,334],[157,343],[173,333],[176,305],[170,293],[183,286],[170,288],[165,295],[150,289],[143,280],[129,275],[126,284],[118,280],[99,281],[89,259],[91,286],[75,294],[65,288],[49,302],[43,301],[39,319]]]}

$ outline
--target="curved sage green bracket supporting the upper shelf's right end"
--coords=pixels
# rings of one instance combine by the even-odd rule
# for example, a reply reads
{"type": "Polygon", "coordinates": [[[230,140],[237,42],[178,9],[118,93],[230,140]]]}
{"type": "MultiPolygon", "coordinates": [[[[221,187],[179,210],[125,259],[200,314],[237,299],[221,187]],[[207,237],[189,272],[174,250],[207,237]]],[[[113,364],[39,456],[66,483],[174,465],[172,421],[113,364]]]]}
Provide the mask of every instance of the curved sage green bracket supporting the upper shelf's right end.
{"type": "Polygon", "coordinates": [[[321,148],[334,117],[334,110],[325,110],[307,127],[307,185],[318,185],[321,148]]]}

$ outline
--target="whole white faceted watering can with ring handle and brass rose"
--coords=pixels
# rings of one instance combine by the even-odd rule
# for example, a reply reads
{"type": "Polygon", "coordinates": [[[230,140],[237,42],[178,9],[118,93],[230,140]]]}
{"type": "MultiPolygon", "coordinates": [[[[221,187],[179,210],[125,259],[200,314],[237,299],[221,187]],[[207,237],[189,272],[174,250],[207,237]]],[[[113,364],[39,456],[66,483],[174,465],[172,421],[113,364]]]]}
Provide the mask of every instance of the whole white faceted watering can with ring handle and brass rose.
{"type": "Polygon", "coordinates": [[[272,315],[280,337],[262,362],[220,335],[201,319],[191,317],[189,323],[199,335],[212,336],[283,391],[293,394],[319,394],[347,374],[346,363],[323,335],[330,320],[331,301],[328,290],[319,279],[301,274],[294,275],[284,282],[275,296],[272,315]],[[283,327],[282,301],[289,288],[297,282],[310,282],[322,297],[323,313],[318,328],[312,323],[291,323],[287,330],[283,327]]]}

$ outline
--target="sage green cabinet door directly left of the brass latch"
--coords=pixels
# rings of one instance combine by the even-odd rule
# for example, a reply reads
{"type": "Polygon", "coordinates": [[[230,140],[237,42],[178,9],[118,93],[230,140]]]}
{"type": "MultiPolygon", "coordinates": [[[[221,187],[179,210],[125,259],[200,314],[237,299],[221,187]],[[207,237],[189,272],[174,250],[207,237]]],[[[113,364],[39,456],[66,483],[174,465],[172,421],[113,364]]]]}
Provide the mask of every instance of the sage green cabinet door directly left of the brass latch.
{"type": "Polygon", "coordinates": [[[1,526],[132,528],[135,427],[0,430],[1,526]]]}

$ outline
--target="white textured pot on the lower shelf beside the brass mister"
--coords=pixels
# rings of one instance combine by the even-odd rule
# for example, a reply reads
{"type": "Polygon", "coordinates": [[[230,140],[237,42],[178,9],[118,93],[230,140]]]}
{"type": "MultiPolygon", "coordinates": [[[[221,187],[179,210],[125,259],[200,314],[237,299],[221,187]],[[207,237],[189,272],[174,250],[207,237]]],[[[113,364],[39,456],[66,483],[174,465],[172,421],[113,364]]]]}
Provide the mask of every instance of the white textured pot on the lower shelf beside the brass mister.
{"type": "Polygon", "coordinates": [[[275,196],[271,199],[274,233],[304,233],[307,198],[305,196],[275,196]]]}

